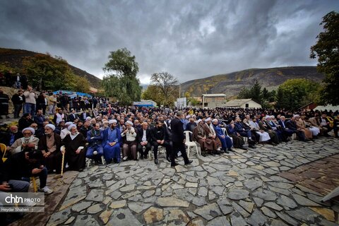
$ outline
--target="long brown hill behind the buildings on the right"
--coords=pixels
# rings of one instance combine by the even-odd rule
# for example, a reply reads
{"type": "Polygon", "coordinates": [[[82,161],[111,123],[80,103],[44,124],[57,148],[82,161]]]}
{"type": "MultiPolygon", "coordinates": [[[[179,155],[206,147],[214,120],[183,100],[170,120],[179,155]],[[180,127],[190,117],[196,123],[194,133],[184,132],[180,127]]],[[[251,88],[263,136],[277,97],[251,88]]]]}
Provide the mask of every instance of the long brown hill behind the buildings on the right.
{"type": "Polygon", "coordinates": [[[271,69],[247,69],[232,73],[210,76],[182,83],[182,91],[190,97],[201,97],[203,93],[225,93],[227,97],[236,96],[242,88],[250,88],[256,80],[263,88],[273,90],[291,78],[307,78],[321,82],[323,73],[316,66],[289,66],[271,69]]]}

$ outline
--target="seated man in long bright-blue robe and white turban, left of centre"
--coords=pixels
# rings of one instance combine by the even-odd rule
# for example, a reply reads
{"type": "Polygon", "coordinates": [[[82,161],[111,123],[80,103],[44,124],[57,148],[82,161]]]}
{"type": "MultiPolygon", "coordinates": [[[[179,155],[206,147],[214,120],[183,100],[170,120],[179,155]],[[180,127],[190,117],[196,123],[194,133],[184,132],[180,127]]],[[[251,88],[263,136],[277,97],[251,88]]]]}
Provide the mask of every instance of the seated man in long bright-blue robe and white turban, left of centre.
{"type": "Polygon", "coordinates": [[[119,163],[121,147],[121,131],[117,128],[117,120],[108,121],[109,127],[102,132],[102,147],[104,148],[104,157],[107,164],[114,162],[119,163]]]}

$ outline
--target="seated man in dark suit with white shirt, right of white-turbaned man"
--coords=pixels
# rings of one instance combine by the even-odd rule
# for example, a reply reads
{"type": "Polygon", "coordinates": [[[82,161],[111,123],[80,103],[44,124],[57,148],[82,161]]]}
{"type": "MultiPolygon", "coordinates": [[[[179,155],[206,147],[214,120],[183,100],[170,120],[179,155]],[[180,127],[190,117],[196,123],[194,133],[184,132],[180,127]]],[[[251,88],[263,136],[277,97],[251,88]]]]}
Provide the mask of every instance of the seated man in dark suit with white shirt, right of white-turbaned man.
{"type": "Polygon", "coordinates": [[[148,152],[150,151],[150,148],[152,148],[151,142],[152,137],[150,135],[150,129],[148,128],[148,123],[143,122],[141,128],[137,129],[138,131],[138,152],[140,153],[140,158],[143,160],[143,158],[147,159],[148,152]],[[143,151],[143,147],[145,147],[145,151],[143,151]]]}

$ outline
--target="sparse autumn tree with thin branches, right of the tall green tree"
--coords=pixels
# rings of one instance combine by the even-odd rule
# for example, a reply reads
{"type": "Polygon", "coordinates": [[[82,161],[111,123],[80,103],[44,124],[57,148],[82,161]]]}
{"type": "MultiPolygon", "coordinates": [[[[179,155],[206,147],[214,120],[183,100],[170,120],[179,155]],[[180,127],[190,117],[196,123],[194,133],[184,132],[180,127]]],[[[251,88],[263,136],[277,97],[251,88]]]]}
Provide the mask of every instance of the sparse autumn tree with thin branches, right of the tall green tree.
{"type": "Polygon", "coordinates": [[[153,73],[150,77],[150,83],[157,85],[160,88],[160,93],[163,96],[164,105],[172,105],[174,98],[177,97],[177,78],[174,78],[170,73],[160,72],[153,73]]]}

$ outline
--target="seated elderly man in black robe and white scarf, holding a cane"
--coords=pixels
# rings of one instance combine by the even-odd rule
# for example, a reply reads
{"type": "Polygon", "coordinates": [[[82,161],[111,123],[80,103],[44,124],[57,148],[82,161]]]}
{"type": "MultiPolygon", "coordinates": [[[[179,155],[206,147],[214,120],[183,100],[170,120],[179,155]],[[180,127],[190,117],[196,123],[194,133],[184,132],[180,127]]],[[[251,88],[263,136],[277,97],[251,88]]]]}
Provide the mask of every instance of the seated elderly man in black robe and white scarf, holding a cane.
{"type": "Polygon", "coordinates": [[[65,157],[69,164],[69,170],[83,171],[85,169],[85,137],[79,133],[75,124],[69,126],[71,133],[64,138],[65,157]]]}

